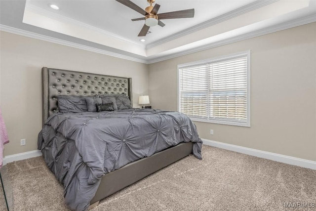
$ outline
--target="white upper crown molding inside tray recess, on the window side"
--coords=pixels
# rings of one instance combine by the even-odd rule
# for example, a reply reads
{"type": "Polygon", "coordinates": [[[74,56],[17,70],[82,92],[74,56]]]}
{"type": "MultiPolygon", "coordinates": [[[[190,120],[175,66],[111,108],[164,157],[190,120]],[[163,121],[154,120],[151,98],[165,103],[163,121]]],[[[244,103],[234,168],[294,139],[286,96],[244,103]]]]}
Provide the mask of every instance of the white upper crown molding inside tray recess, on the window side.
{"type": "Polygon", "coordinates": [[[255,10],[255,9],[260,8],[260,7],[266,6],[268,4],[274,3],[276,1],[278,1],[278,0],[257,0],[257,1],[254,1],[250,4],[247,4],[245,6],[237,8],[231,12],[227,12],[227,13],[220,15],[216,18],[212,18],[208,21],[197,24],[196,26],[190,27],[189,29],[186,29],[186,30],[183,30],[183,31],[178,32],[176,34],[170,35],[170,36],[165,37],[163,39],[160,39],[158,41],[151,42],[151,43],[146,45],[146,49],[150,49],[152,47],[158,46],[158,45],[163,44],[165,42],[170,42],[172,40],[181,38],[183,36],[192,34],[192,33],[197,32],[199,30],[202,30],[202,29],[205,29],[207,27],[213,26],[215,24],[224,22],[224,21],[229,20],[231,18],[237,17],[238,15],[250,12],[252,10],[255,10]]]}

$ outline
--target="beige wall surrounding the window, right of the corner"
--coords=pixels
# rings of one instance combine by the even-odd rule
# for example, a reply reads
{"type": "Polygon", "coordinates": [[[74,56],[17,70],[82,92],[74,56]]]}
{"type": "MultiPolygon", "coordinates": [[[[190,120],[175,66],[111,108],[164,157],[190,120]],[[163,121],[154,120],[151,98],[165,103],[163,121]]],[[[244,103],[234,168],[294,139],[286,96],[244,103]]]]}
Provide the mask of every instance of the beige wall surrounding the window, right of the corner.
{"type": "Polygon", "coordinates": [[[152,106],[177,110],[178,64],[246,50],[251,127],[195,122],[200,137],[316,161],[316,23],[150,64],[152,106]]]}

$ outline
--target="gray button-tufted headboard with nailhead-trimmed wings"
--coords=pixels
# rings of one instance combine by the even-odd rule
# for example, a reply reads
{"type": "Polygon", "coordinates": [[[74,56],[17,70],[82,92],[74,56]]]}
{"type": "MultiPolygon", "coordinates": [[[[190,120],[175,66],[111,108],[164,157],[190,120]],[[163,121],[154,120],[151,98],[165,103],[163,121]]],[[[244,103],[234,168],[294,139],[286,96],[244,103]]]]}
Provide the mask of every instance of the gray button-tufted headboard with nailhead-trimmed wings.
{"type": "Polygon", "coordinates": [[[42,68],[43,124],[57,109],[56,95],[126,94],[132,100],[132,79],[42,68]]]}

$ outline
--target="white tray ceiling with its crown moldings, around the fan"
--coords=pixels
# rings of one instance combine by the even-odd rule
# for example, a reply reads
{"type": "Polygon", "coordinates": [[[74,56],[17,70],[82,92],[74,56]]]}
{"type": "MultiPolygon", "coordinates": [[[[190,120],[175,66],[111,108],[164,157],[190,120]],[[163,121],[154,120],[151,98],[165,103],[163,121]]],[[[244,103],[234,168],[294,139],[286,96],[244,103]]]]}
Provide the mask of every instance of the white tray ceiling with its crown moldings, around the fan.
{"type": "MultiPolygon", "coordinates": [[[[141,8],[147,0],[132,0],[141,8]]],[[[1,30],[143,63],[316,21],[315,0],[156,0],[159,13],[195,8],[194,18],[144,21],[115,0],[1,0],[1,30]],[[49,7],[59,6],[59,10],[49,7]],[[145,39],[141,42],[140,39],[145,39]]]]}

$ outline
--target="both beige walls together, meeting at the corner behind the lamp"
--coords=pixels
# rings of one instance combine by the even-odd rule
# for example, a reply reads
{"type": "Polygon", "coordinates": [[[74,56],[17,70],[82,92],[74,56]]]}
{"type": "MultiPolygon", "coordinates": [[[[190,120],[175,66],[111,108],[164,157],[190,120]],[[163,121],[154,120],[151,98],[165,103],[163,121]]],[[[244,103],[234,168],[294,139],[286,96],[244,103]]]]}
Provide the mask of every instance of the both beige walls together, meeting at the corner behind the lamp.
{"type": "Polygon", "coordinates": [[[195,122],[200,137],[316,161],[316,23],[150,65],[2,31],[0,45],[5,156],[37,149],[43,66],[132,77],[134,106],[149,93],[154,108],[177,110],[178,64],[251,50],[251,127],[195,122]]]}

